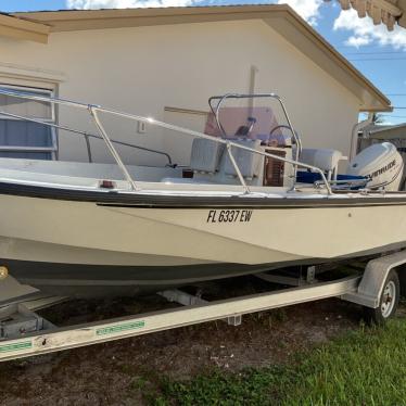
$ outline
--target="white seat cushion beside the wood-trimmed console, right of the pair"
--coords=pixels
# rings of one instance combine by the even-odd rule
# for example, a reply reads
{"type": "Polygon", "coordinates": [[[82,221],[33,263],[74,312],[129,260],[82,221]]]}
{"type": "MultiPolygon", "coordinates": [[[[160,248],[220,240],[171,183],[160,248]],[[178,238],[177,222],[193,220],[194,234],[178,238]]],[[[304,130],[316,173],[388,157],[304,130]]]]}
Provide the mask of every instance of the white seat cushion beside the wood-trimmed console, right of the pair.
{"type": "MultiPolygon", "coordinates": [[[[252,139],[244,139],[244,140],[236,140],[232,141],[240,145],[244,145],[248,148],[252,148],[253,150],[261,151],[261,140],[252,140],[252,139]]],[[[262,155],[255,154],[250,151],[241,150],[237,147],[231,148],[232,156],[236,160],[236,163],[241,170],[241,175],[244,178],[253,178],[259,175],[259,166],[261,162],[263,161],[262,155]]],[[[227,152],[225,152],[225,166],[224,172],[226,175],[229,176],[237,176],[237,172],[230,156],[227,152]]]]}

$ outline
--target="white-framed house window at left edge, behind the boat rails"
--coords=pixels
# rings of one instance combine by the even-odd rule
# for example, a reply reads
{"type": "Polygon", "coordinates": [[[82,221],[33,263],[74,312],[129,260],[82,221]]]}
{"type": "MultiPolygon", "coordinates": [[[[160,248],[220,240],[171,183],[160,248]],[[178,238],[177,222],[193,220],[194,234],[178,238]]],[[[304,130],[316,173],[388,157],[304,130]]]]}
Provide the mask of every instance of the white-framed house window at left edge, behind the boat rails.
{"type": "MultiPolygon", "coordinates": [[[[1,89],[51,97],[47,89],[1,85],[1,89]]],[[[54,160],[58,154],[55,129],[43,124],[10,117],[4,113],[55,123],[54,105],[0,93],[0,157],[54,160]]]]}

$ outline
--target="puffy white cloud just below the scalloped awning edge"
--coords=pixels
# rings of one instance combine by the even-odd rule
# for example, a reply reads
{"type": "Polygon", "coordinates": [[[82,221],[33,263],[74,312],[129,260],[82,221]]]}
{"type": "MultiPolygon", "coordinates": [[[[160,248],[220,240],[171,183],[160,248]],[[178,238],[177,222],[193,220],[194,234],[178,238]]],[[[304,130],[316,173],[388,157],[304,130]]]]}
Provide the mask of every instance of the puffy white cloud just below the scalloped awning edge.
{"type": "Polygon", "coordinates": [[[352,33],[345,41],[347,46],[359,48],[378,42],[380,46],[392,46],[398,50],[406,50],[405,29],[396,25],[393,31],[389,31],[383,24],[373,25],[371,18],[358,18],[355,10],[341,11],[334,21],[333,29],[352,33]]]}

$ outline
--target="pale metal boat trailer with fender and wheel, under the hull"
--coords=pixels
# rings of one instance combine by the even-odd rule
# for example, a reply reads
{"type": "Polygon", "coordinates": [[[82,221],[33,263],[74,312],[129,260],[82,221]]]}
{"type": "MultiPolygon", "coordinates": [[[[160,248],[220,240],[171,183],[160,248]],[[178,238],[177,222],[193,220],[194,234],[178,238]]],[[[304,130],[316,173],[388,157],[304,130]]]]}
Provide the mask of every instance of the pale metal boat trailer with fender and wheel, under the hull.
{"type": "MultiPolygon", "coordinates": [[[[269,282],[293,284],[294,288],[271,290],[227,300],[207,302],[180,290],[158,294],[181,307],[137,314],[97,322],[58,328],[37,313],[63,302],[64,297],[47,296],[38,290],[21,286],[7,271],[0,272],[0,360],[48,354],[90,344],[196,325],[225,320],[239,326],[242,316],[299,303],[340,297],[365,306],[375,321],[384,321],[396,309],[399,281],[394,268],[406,264],[406,250],[367,263],[363,275],[319,282],[315,267],[307,268],[305,279],[265,274],[269,282]],[[13,296],[12,293],[16,294],[13,296]]],[[[402,272],[399,272],[402,277],[402,272]]]]}

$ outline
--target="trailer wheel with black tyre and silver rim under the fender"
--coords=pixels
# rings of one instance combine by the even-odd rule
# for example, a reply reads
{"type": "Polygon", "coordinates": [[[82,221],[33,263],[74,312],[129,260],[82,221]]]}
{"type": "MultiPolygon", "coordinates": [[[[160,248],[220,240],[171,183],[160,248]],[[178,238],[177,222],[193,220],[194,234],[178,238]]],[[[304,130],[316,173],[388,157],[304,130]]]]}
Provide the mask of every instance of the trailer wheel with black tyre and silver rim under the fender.
{"type": "Polygon", "coordinates": [[[395,270],[391,270],[383,283],[383,290],[377,308],[364,307],[367,322],[383,325],[397,309],[401,297],[401,283],[395,270]]]}

